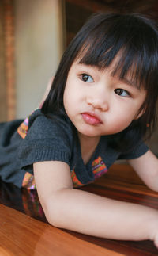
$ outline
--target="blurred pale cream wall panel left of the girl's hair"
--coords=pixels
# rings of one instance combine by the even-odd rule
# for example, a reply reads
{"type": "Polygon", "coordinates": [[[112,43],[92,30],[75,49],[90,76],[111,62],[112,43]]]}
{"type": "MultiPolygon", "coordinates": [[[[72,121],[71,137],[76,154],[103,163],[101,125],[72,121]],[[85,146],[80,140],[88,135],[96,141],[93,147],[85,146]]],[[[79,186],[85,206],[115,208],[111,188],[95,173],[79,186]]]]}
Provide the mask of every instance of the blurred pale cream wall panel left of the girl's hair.
{"type": "Polygon", "coordinates": [[[38,107],[63,52],[60,0],[15,0],[16,117],[38,107]]]}

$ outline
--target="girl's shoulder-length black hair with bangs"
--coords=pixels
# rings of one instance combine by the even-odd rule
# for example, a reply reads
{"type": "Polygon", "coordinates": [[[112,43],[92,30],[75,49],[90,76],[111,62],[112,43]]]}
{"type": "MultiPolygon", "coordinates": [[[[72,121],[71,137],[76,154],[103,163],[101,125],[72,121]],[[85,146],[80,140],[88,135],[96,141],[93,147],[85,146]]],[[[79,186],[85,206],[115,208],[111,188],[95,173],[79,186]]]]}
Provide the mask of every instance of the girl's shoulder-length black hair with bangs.
{"type": "MultiPolygon", "coordinates": [[[[96,13],[70,42],[58,66],[50,93],[43,103],[42,112],[65,113],[63,94],[66,79],[73,62],[110,67],[115,61],[112,75],[130,80],[138,88],[147,90],[141,109],[145,113],[120,132],[126,144],[126,135],[133,134],[133,145],[137,139],[151,135],[156,125],[156,101],[158,98],[158,30],[151,19],[137,13],[96,13]],[[117,58],[116,58],[117,57],[117,58]]],[[[113,136],[115,142],[117,136],[113,136]]],[[[119,144],[119,143],[118,143],[119,144]]]]}

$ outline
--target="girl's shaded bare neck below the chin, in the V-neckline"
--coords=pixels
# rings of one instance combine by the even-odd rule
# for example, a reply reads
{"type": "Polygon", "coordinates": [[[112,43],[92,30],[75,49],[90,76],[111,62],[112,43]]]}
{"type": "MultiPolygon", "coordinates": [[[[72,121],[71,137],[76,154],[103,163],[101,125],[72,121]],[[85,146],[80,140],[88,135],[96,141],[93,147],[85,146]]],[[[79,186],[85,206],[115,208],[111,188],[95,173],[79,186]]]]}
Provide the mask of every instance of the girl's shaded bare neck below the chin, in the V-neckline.
{"type": "Polygon", "coordinates": [[[78,132],[78,138],[81,145],[81,157],[85,164],[91,159],[96,147],[100,141],[100,136],[88,137],[78,132]]]}

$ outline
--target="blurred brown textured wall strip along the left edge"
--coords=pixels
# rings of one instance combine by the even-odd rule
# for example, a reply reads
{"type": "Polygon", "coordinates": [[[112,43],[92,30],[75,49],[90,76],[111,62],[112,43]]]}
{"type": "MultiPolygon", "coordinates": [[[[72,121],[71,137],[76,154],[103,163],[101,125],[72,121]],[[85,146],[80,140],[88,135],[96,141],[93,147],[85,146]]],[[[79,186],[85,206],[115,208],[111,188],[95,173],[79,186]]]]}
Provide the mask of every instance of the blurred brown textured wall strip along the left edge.
{"type": "Polygon", "coordinates": [[[15,118],[14,1],[0,1],[0,121],[15,118]]]}

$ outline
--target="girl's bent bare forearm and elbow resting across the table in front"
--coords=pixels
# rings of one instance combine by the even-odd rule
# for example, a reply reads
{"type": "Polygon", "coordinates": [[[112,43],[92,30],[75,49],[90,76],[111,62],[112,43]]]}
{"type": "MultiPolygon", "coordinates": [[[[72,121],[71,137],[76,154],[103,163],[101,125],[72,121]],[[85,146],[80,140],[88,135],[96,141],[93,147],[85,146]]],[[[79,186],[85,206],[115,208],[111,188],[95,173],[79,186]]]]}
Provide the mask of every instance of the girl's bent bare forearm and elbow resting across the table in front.
{"type": "Polygon", "coordinates": [[[151,239],[158,247],[155,209],[73,189],[65,162],[34,164],[37,192],[50,224],[107,239],[151,239]]]}

